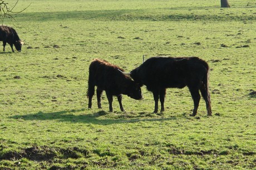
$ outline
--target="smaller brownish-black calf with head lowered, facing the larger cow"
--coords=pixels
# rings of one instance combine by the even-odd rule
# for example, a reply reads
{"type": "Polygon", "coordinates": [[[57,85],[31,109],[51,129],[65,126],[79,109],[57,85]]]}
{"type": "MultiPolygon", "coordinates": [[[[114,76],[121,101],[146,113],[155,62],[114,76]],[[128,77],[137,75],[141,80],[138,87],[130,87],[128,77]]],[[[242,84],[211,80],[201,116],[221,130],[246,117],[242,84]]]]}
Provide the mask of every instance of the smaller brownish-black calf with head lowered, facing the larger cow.
{"type": "MultiPolygon", "coordinates": [[[[97,86],[97,104],[101,109],[102,91],[106,91],[109,100],[109,111],[112,112],[113,95],[117,96],[121,111],[125,111],[122,107],[122,95],[125,94],[132,99],[141,100],[141,86],[131,80],[129,76],[123,75],[119,70],[119,66],[112,65],[105,60],[94,59],[89,67],[89,79],[87,97],[89,98],[88,108],[92,106],[92,96],[97,86]]],[[[122,70],[123,71],[123,70],[122,70]]]]}

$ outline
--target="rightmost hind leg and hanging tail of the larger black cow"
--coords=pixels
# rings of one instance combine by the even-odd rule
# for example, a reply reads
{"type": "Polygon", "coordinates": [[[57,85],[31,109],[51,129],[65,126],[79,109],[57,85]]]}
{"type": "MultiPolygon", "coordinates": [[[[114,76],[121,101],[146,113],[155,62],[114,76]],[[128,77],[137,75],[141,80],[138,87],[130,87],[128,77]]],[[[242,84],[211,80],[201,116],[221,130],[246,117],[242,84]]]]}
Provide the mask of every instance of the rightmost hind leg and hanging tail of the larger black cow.
{"type": "Polygon", "coordinates": [[[201,91],[201,95],[204,97],[204,100],[205,100],[207,115],[211,116],[211,100],[210,100],[210,92],[209,92],[210,68],[207,63],[204,63],[204,66],[207,72],[205,73],[204,78],[202,80],[203,85],[200,87],[200,91],[201,91]]]}

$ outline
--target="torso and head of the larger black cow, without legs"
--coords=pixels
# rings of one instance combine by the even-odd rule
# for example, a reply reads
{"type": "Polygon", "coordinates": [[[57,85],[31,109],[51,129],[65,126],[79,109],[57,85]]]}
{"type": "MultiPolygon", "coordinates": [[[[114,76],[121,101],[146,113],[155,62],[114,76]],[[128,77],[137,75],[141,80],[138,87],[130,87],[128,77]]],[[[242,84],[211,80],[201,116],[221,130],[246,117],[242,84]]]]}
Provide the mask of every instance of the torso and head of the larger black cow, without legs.
{"type": "Polygon", "coordinates": [[[152,57],[131,71],[132,78],[147,89],[167,87],[183,88],[192,76],[201,79],[207,73],[208,64],[197,57],[152,57]]]}

